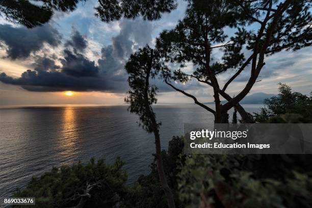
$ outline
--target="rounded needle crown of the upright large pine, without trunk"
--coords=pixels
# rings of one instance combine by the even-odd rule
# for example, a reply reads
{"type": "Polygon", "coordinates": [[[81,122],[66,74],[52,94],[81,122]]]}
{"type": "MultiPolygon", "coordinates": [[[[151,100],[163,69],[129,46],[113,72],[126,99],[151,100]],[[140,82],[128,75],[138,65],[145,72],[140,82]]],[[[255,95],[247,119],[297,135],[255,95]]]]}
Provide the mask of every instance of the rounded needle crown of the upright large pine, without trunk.
{"type": "MultiPolygon", "coordinates": [[[[240,49],[245,43],[247,32],[243,29],[231,38],[234,43],[224,48],[224,63],[210,63],[210,57],[206,57],[206,47],[209,47],[210,54],[213,44],[224,42],[227,36],[223,29],[236,25],[239,16],[228,1],[189,1],[185,18],[174,29],[161,33],[157,39],[157,48],[167,61],[180,63],[182,68],[184,63],[193,62],[197,67],[194,75],[202,80],[209,79],[206,63],[215,74],[219,74],[240,64],[244,58],[240,49]]],[[[185,76],[177,70],[173,71],[172,77],[166,78],[186,82],[188,80],[185,76]]]]}

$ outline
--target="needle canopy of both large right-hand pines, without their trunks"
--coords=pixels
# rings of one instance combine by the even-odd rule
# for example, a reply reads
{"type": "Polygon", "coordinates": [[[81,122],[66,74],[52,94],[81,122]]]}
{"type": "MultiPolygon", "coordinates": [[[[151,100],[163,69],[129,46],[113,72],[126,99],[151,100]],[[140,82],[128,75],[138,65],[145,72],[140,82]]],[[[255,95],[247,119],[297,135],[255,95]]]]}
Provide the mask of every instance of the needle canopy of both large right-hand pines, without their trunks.
{"type": "MultiPolygon", "coordinates": [[[[252,50],[254,47],[261,48],[265,43],[267,33],[259,34],[248,29],[248,25],[261,19],[268,10],[267,1],[189,1],[188,9],[183,20],[180,20],[172,30],[163,31],[157,38],[157,48],[167,61],[181,64],[192,62],[197,68],[193,75],[200,80],[210,80],[207,74],[207,66],[214,74],[220,74],[228,69],[238,70],[245,55],[243,49],[252,50]],[[224,29],[233,28],[234,36],[228,37],[224,29]],[[258,41],[257,38],[260,38],[258,41]],[[222,61],[215,62],[211,57],[212,50],[221,49],[222,61]]],[[[280,2],[273,1],[273,8],[280,2]]],[[[271,55],[282,49],[300,49],[312,44],[312,28],[310,22],[310,2],[307,0],[293,1],[288,9],[282,13],[273,31],[265,54],[271,55]]],[[[276,12],[272,9],[272,15],[276,12]]],[[[271,21],[264,24],[268,31],[271,21]]],[[[249,56],[249,55],[248,55],[249,56]]],[[[245,67],[245,66],[244,66],[245,67]]],[[[185,74],[176,73],[168,75],[168,79],[181,79],[185,74]]]]}

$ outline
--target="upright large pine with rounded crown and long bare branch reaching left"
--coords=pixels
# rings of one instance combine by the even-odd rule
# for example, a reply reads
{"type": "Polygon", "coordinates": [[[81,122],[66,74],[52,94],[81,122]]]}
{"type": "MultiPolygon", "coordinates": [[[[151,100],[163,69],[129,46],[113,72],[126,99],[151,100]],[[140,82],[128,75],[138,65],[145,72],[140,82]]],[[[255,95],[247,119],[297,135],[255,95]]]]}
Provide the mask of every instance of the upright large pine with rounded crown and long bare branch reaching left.
{"type": "MultiPolygon", "coordinates": [[[[170,83],[170,80],[186,83],[193,78],[212,86],[216,110],[203,105],[197,99],[194,101],[197,105],[213,113],[216,122],[225,122],[227,117],[226,112],[223,114],[221,112],[219,93],[226,99],[230,98],[225,92],[220,92],[216,76],[228,69],[237,67],[244,58],[238,52],[247,36],[245,30],[239,30],[237,37],[224,43],[227,37],[224,35],[224,28],[236,25],[239,18],[240,14],[237,9],[228,4],[227,1],[189,1],[185,18],[178,22],[175,29],[164,31],[157,39],[157,48],[166,58],[166,61],[179,63],[181,68],[187,62],[192,62],[195,65],[193,74],[186,74],[180,69],[173,72],[166,71],[163,74],[165,83],[193,99],[195,96],[176,88],[170,83]],[[224,62],[213,63],[212,50],[219,48],[225,50],[224,62]]],[[[239,104],[236,107],[242,117],[247,115],[239,104]]],[[[247,119],[247,116],[245,118],[247,119]]]]}

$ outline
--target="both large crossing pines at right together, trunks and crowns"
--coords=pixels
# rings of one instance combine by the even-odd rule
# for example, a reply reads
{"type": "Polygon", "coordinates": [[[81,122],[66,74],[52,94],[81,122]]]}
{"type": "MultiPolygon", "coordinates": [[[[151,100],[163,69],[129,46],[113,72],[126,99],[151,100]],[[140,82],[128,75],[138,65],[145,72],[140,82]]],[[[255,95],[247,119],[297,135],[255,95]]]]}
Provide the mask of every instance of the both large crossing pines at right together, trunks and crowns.
{"type": "Polygon", "coordinates": [[[161,33],[157,39],[157,49],[166,61],[180,64],[180,69],[163,72],[165,83],[213,113],[216,123],[224,122],[227,111],[233,107],[245,122],[252,122],[239,102],[257,82],[265,56],[282,49],[297,50],[312,43],[309,8],[310,2],[306,0],[189,1],[185,18],[174,29],[161,33]],[[258,24],[259,29],[250,29],[250,24],[258,24]],[[226,27],[236,29],[235,35],[228,38],[224,32],[226,27]],[[217,49],[223,52],[221,62],[213,62],[212,59],[212,51],[217,49]],[[188,62],[195,66],[192,74],[181,70],[188,62]],[[247,85],[237,96],[230,97],[226,89],[250,63],[247,85]],[[228,70],[236,70],[236,73],[221,88],[218,75],[228,70]],[[190,79],[213,88],[215,110],[170,82],[186,83],[190,79]],[[220,95],[228,101],[224,105],[220,103],[220,95]]]}

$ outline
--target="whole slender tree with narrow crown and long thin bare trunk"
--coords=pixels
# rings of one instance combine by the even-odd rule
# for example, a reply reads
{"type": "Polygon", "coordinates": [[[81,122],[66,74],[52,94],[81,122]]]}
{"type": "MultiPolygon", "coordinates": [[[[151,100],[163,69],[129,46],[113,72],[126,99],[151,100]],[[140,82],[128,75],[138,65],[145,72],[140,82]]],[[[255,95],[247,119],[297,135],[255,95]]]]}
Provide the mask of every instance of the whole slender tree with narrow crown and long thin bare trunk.
{"type": "Polygon", "coordinates": [[[167,183],[163,167],[159,135],[160,123],[157,122],[152,109],[152,104],[157,102],[155,97],[157,87],[150,84],[150,79],[154,79],[163,67],[165,66],[160,61],[158,53],[154,53],[154,50],[148,45],[131,55],[125,65],[125,69],[129,74],[128,83],[131,88],[125,102],[130,104],[128,110],[131,113],[139,115],[140,125],[145,131],[154,134],[155,157],[160,182],[167,196],[168,206],[175,207],[173,194],[167,183]]]}

